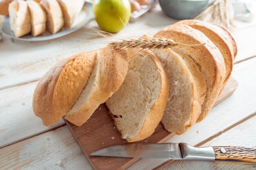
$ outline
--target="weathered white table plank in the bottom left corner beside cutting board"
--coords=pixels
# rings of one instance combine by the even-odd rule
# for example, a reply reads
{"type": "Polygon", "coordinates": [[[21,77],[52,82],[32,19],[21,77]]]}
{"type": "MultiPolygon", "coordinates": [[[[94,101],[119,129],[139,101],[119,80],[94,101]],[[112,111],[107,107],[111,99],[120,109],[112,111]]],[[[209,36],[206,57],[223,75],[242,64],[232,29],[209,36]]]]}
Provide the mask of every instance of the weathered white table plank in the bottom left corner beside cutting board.
{"type": "Polygon", "coordinates": [[[1,170],[91,170],[74,137],[63,126],[0,149],[1,170]]]}

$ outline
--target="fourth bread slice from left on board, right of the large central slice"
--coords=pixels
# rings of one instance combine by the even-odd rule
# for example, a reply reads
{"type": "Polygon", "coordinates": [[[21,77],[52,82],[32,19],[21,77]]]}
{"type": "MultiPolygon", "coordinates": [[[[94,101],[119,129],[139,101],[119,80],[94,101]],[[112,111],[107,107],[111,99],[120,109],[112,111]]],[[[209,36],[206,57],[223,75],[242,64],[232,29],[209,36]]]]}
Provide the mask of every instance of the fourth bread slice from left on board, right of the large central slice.
{"type": "Polygon", "coordinates": [[[186,61],[186,58],[182,58],[171,49],[156,51],[154,54],[162,62],[169,78],[169,96],[162,124],[169,132],[180,135],[195,124],[201,113],[206,84],[203,89],[204,96],[200,97],[201,91],[198,91],[198,88],[201,88],[201,84],[197,82],[202,76],[204,79],[204,75],[200,74],[197,66],[193,68],[193,61],[186,61]]]}

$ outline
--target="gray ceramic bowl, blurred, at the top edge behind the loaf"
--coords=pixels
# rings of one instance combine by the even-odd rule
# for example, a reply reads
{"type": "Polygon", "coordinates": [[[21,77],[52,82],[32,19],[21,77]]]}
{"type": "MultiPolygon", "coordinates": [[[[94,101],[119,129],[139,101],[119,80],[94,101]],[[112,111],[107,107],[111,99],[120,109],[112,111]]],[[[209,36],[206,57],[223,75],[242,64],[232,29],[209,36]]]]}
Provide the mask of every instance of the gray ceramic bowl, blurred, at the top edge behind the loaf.
{"type": "Polygon", "coordinates": [[[192,19],[206,9],[209,0],[159,0],[168,16],[178,20],[192,19]]]}

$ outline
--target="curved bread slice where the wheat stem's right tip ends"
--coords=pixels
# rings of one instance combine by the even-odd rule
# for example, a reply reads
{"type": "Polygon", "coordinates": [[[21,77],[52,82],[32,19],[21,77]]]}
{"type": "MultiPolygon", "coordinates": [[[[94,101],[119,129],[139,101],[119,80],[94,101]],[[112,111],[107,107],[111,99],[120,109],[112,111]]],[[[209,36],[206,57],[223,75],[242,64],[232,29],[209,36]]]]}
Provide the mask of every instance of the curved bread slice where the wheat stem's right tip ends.
{"type": "Polygon", "coordinates": [[[202,113],[197,122],[202,121],[217,99],[225,80],[225,63],[218,48],[202,32],[186,25],[171,25],[160,30],[155,37],[170,38],[183,44],[200,44],[201,46],[173,46],[193,58],[195,64],[204,73],[207,93],[202,104],[202,113]]]}

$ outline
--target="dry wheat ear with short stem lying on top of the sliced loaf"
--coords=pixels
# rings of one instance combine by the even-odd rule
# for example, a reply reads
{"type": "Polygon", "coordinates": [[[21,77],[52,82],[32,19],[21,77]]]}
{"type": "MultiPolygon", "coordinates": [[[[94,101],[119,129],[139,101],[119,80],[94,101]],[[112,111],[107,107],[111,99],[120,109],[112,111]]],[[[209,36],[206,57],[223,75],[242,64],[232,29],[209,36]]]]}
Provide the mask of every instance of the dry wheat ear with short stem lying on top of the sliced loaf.
{"type": "Polygon", "coordinates": [[[119,49],[146,49],[146,50],[160,50],[160,49],[168,49],[173,46],[177,45],[184,45],[184,46],[200,46],[202,44],[182,44],[180,42],[174,42],[168,38],[138,38],[138,39],[129,39],[129,40],[122,40],[116,42],[110,42],[109,45],[113,48],[119,49]]]}

